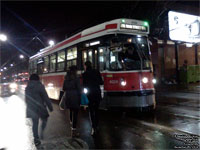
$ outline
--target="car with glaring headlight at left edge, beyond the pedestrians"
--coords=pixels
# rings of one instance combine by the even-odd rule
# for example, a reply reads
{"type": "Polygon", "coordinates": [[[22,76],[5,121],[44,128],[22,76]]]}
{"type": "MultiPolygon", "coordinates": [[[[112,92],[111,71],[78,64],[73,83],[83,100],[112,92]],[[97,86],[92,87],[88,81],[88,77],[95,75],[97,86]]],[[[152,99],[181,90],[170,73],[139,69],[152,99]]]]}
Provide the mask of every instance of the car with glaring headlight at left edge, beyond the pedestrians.
{"type": "Polygon", "coordinates": [[[11,79],[2,78],[0,79],[0,96],[10,96],[16,94],[18,90],[17,83],[11,79]]]}

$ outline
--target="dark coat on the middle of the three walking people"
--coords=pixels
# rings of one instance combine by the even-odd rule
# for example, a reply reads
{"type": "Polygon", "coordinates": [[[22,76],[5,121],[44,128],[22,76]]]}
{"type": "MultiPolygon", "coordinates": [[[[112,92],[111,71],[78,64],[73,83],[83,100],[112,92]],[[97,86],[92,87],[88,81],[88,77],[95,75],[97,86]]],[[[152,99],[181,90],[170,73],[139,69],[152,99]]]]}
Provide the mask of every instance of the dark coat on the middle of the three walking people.
{"type": "Polygon", "coordinates": [[[65,79],[63,84],[63,91],[65,95],[65,106],[66,108],[79,109],[81,103],[81,85],[80,79],[65,79]]]}

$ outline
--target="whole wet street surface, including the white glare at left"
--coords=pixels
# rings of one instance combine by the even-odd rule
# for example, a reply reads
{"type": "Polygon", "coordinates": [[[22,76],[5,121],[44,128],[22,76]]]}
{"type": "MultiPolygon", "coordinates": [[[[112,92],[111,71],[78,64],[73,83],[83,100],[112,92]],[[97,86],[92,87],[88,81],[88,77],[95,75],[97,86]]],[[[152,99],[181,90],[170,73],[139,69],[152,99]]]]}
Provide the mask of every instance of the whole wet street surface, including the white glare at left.
{"type": "MultiPolygon", "coordinates": [[[[165,101],[160,99],[156,111],[151,113],[132,109],[100,110],[100,126],[96,136],[90,135],[88,110],[81,109],[78,120],[78,140],[81,142],[72,140],[71,144],[69,113],[60,111],[55,103],[45,130],[45,140],[39,149],[80,149],[84,143],[84,149],[87,146],[90,149],[198,148],[198,107],[184,105],[190,102],[188,100],[178,99],[178,103],[174,103],[172,98],[167,98],[165,101]],[[168,103],[165,103],[167,100],[168,103]],[[196,143],[188,142],[188,139],[196,143]]],[[[36,149],[32,144],[31,122],[25,118],[23,95],[0,98],[0,119],[0,149],[36,149]]]]}

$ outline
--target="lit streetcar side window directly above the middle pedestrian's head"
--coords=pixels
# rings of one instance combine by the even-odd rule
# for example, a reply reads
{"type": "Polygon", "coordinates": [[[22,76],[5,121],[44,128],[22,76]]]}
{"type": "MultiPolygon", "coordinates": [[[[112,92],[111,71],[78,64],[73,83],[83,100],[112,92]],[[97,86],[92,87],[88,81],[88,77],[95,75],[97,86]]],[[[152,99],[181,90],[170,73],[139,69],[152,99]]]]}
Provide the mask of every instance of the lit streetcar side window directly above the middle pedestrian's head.
{"type": "Polygon", "coordinates": [[[67,70],[72,65],[77,65],[77,47],[67,50],[67,70]]]}

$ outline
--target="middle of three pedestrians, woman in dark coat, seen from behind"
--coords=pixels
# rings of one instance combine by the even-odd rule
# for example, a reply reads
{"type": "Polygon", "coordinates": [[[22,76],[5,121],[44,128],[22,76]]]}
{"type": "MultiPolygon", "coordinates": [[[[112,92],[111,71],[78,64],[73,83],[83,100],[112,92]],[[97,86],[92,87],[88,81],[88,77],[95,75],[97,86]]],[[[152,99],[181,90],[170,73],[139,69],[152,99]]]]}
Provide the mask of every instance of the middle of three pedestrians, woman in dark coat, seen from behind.
{"type": "Polygon", "coordinates": [[[70,122],[72,123],[72,136],[78,136],[76,131],[78,112],[81,103],[81,85],[77,77],[76,66],[71,66],[65,77],[63,91],[66,92],[66,108],[70,110],[70,122]]]}

